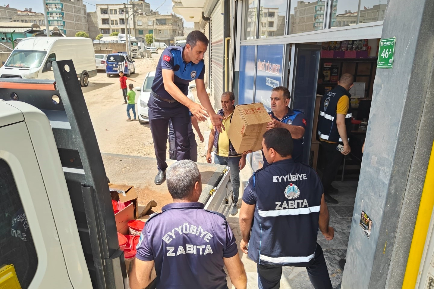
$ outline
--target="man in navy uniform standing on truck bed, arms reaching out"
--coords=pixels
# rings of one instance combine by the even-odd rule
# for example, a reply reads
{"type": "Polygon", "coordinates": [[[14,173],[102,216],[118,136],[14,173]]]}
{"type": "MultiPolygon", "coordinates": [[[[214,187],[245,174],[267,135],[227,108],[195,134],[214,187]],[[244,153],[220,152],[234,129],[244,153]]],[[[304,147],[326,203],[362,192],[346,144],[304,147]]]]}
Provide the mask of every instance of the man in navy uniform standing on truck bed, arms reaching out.
{"type": "Polygon", "coordinates": [[[214,129],[220,132],[224,130],[221,122],[224,117],[214,112],[205,89],[203,58],[207,47],[208,39],[204,33],[194,30],[188,34],[185,47],[170,46],[164,49],[158,61],[148,101],[149,125],[158,167],[156,185],[161,185],[165,180],[169,120],[175,133],[177,160],[190,159],[188,110],[197,120],[204,121],[209,116],[214,129]],[[188,84],[193,80],[196,82],[197,97],[203,106],[187,97],[188,84]]]}

